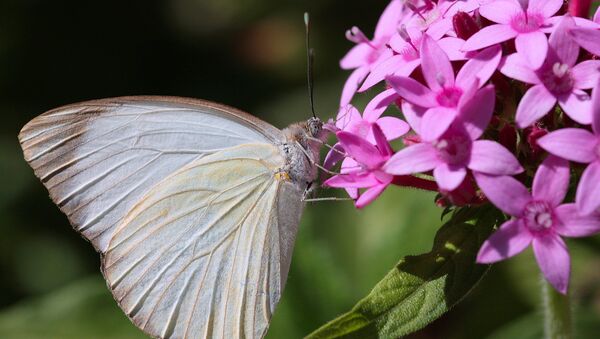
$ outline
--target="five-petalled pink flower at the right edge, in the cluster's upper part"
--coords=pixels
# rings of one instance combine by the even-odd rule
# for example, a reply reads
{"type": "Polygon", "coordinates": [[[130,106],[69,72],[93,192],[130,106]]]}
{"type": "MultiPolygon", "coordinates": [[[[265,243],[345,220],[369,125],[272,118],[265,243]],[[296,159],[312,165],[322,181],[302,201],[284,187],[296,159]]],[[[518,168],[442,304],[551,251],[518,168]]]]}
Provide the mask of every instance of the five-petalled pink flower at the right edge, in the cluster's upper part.
{"type": "Polygon", "coordinates": [[[500,65],[504,75],[534,85],[517,107],[516,122],[520,128],[528,127],[546,115],[557,101],[573,120],[591,123],[589,95],[583,90],[594,86],[600,61],[575,64],[579,47],[568,34],[574,25],[573,18],[563,18],[550,35],[550,48],[540,69],[529,66],[518,53],[509,55],[500,65]]]}

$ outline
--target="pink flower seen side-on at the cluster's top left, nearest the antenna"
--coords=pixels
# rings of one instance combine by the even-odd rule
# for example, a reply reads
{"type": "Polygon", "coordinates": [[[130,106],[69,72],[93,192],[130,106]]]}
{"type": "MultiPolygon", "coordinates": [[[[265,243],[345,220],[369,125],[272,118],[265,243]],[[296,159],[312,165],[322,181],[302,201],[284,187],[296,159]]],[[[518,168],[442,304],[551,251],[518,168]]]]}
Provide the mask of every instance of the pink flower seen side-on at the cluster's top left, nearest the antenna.
{"type": "Polygon", "coordinates": [[[374,65],[392,55],[387,47],[390,37],[396,33],[398,23],[407,15],[407,8],[401,0],[392,0],[379,18],[373,40],[357,27],[352,27],[346,36],[356,43],[340,61],[343,69],[354,69],[346,80],[342,90],[340,106],[346,106],[352,101],[352,97],[365,77],[371,72],[374,65]]]}

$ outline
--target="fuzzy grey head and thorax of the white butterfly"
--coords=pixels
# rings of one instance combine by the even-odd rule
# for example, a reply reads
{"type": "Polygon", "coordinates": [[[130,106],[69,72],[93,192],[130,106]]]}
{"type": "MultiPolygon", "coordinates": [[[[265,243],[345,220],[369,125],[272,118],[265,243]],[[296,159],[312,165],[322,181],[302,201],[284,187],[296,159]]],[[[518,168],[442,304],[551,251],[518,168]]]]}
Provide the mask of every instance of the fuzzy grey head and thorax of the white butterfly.
{"type": "Polygon", "coordinates": [[[290,179],[305,187],[317,178],[319,149],[325,133],[319,118],[290,125],[283,130],[287,142],[282,145],[286,157],[285,171],[290,179]]]}

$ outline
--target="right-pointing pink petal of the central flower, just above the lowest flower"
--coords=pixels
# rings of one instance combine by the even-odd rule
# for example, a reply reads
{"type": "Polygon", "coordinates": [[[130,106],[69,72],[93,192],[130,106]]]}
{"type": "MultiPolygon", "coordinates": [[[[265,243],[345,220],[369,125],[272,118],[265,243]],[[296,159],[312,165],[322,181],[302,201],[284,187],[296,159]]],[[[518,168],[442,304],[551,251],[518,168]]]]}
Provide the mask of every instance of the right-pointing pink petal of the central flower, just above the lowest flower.
{"type": "Polygon", "coordinates": [[[517,158],[504,146],[491,140],[477,140],[473,143],[467,167],[491,175],[514,175],[523,172],[517,158]]]}

